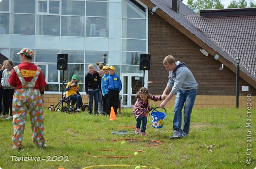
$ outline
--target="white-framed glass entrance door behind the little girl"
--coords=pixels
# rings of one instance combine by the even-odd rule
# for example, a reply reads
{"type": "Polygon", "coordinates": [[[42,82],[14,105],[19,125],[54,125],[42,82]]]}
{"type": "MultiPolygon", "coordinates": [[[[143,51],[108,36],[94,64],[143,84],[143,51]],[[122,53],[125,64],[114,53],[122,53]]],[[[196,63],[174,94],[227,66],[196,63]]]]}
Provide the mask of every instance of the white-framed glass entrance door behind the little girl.
{"type": "Polygon", "coordinates": [[[133,107],[136,102],[136,93],[143,86],[143,75],[139,74],[122,74],[123,98],[121,100],[123,107],[133,107]]]}

